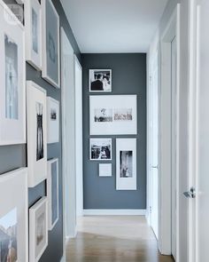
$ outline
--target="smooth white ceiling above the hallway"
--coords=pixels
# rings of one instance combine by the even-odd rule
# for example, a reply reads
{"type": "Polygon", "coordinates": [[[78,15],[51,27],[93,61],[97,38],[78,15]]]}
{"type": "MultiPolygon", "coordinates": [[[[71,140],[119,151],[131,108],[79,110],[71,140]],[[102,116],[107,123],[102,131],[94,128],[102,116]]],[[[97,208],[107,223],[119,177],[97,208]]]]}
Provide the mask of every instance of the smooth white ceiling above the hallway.
{"type": "Polygon", "coordinates": [[[60,0],[81,52],[147,52],[167,0],[60,0]]]}

